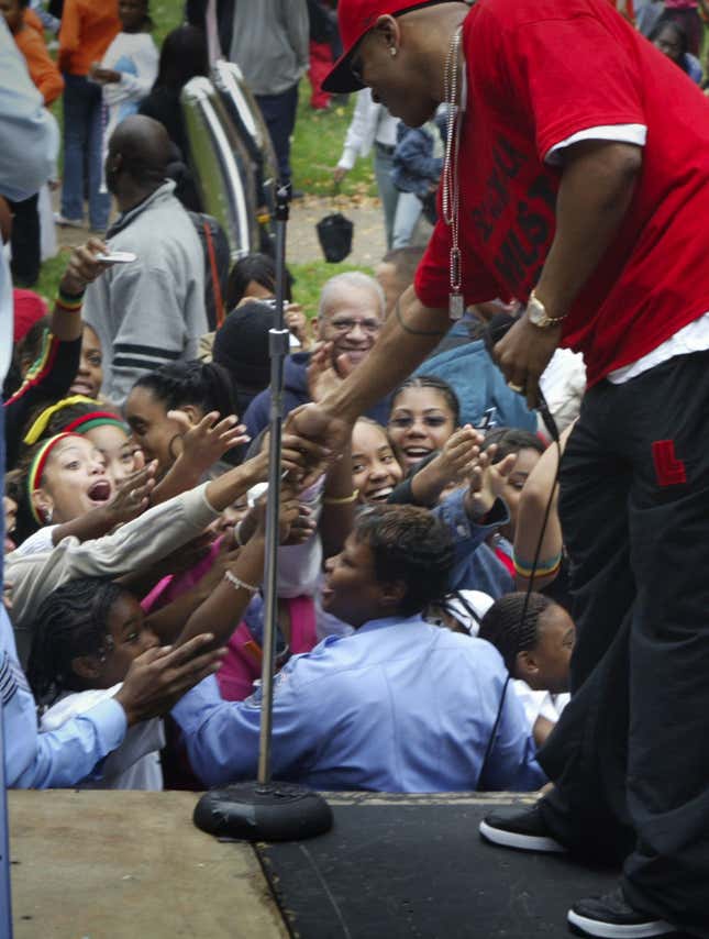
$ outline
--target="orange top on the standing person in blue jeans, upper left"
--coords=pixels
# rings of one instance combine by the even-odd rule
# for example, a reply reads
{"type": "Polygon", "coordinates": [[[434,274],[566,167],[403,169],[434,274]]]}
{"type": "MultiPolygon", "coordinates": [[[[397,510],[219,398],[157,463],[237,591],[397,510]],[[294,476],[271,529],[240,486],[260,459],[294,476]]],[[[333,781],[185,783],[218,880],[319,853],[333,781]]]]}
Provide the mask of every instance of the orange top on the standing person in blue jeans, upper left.
{"type": "Polygon", "coordinates": [[[121,32],[118,0],[65,0],[57,64],[69,75],[88,75],[121,32]]]}

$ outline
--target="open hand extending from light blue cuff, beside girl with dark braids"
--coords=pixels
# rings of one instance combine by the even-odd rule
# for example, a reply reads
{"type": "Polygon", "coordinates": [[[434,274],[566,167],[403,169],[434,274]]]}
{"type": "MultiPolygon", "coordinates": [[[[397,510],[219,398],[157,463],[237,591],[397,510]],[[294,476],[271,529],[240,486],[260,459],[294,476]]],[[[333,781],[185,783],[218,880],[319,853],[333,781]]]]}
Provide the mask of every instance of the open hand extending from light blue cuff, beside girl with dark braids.
{"type": "Polygon", "coordinates": [[[202,678],[219,671],[225,650],[203,650],[214,641],[210,633],[180,645],[153,647],[133,661],[115,700],[125,711],[129,727],[159,717],[202,678]]]}

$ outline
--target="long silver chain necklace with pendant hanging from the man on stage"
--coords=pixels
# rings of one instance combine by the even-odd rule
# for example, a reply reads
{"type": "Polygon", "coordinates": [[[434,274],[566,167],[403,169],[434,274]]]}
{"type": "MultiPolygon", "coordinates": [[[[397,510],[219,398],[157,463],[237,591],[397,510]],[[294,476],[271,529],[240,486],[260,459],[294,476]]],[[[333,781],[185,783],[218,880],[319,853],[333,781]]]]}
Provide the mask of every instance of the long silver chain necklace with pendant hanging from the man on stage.
{"type": "Polygon", "coordinates": [[[463,26],[453,34],[448,53],[445,57],[445,73],[443,76],[443,95],[447,104],[446,113],[446,139],[445,157],[443,159],[443,221],[451,229],[451,253],[448,255],[448,278],[451,292],[448,294],[448,316],[452,320],[459,320],[465,312],[465,301],[461,294],[462,262],[459,236],[459,207],[461,187],[458,180],[458,153],[461,150],[461,124],[463,123],[462,109],[458,103],[461,97],[461,37],[463,26]]]}

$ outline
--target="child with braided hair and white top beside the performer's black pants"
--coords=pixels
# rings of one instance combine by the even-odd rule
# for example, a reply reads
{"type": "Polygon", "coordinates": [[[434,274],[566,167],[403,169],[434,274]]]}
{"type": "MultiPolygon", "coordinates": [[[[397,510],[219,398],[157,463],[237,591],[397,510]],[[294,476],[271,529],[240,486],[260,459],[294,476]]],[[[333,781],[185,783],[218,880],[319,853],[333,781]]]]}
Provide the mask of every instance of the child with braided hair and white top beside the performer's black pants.
{"type": "Polygon", "coordinates": [[[496,647],[534,732],[546,740],[568,702],[569,662],[576,627],[564,607],[543,594],[508,594],[480,622],[480,639],[496,647]]]}

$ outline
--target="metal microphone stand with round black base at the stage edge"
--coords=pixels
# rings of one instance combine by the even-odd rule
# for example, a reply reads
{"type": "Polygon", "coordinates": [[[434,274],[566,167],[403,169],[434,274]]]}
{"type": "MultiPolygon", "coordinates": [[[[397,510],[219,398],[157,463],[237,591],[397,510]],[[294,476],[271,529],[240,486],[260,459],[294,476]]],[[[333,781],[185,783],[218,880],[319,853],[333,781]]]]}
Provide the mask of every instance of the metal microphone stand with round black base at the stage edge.
{"type": "Polygon", "coordinates": [[[266,504],[265,622],[261,677],[258,776],[207,793],[195,808],[195,824],[213,835],[247,841],[292,841],[332,827],[332,809],[319,794],[272,778],[274,667],[278,628],[278,517],[280,513],[284,367],[289,351],[285,327],[286,229],[290,194],[276,194],[276,325],[269,331],[270,422],[266,504]]]}

